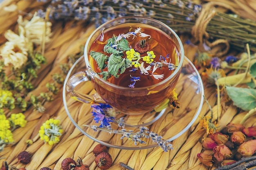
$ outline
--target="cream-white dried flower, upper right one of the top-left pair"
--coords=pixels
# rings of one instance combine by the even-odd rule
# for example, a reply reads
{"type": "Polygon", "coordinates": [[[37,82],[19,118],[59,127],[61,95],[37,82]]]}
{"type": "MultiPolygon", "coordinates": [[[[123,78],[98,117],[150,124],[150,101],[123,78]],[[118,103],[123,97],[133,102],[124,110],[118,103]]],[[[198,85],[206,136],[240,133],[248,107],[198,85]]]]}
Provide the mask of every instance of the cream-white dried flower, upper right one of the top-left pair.
{"type": "Polygon", "coordinates": [[[29,41],[35,44],[41,44],[43,42],[49,42],[50,36],[52,35],[51,26],[52,23],[40,18],[37,16],[37,13],[34,13],[33,18],[31,20],[24,20],[21,15],[19,15],[18,20],[19,29],[25,30],[25,37],[29,39],[29,41]]]}

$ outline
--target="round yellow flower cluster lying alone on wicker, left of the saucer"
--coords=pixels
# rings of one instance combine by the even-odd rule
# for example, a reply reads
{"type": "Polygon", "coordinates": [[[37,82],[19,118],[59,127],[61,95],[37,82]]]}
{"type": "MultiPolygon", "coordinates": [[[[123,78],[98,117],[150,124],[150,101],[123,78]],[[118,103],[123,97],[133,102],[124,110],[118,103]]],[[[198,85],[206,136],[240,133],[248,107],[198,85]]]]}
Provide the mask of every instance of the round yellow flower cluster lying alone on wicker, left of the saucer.
{"type": "Polygon", "coordinates": [[[60,136],[63,132],[60,126],[60,120],[49,119],[43,123],[39,130],[40,139],[48,142],[49,145],[54,145],[60,141],[60,136]]]}

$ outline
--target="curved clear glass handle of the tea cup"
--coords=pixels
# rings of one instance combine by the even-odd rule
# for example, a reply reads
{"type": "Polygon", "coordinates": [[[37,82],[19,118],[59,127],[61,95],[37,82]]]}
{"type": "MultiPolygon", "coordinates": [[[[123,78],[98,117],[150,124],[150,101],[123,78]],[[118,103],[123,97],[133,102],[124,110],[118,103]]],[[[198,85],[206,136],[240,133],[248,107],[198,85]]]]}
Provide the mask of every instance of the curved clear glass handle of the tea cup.
{"type": "Polygon", "coordinates": [[[93,103],[105,103],[103,99],[98,95],[98,93],[94,93],[93,95],[82,94],[75,89],[75,87],[81,82],[91,81],[91,77],[88,75],[87,71],[80,71],[72,75],[66,84],[66,92],[72,99],[75,99],[79,102],[93,104],[93,103]]]}

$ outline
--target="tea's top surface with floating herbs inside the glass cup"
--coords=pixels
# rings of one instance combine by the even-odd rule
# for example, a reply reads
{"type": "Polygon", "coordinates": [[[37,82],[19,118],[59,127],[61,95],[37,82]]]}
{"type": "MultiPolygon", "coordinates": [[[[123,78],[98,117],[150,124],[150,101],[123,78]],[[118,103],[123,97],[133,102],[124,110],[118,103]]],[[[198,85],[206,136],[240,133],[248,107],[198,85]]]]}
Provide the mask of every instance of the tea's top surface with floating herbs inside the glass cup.
{"type": "Polygon", "coordinates": [[[118,86],[151,86],[169,77],[177,63],[176,45],[159,29],[123,24],[103,31],[90,47],[93,69],[118,86]]]}

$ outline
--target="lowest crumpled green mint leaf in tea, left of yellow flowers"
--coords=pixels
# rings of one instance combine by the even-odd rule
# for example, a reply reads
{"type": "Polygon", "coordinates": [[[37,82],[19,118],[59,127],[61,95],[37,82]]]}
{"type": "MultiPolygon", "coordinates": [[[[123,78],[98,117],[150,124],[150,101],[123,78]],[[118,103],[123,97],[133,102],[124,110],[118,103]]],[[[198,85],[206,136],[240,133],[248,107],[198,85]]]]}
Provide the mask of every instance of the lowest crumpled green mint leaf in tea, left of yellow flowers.
{"type": "Polygon", "coordinates": [[[120,55],[110,55],[108,60],[108,72],[115,78],[119,77],[118,74],[124,73],[126,66],[129,66],[127,59],[122,58],[120,55]]]}

